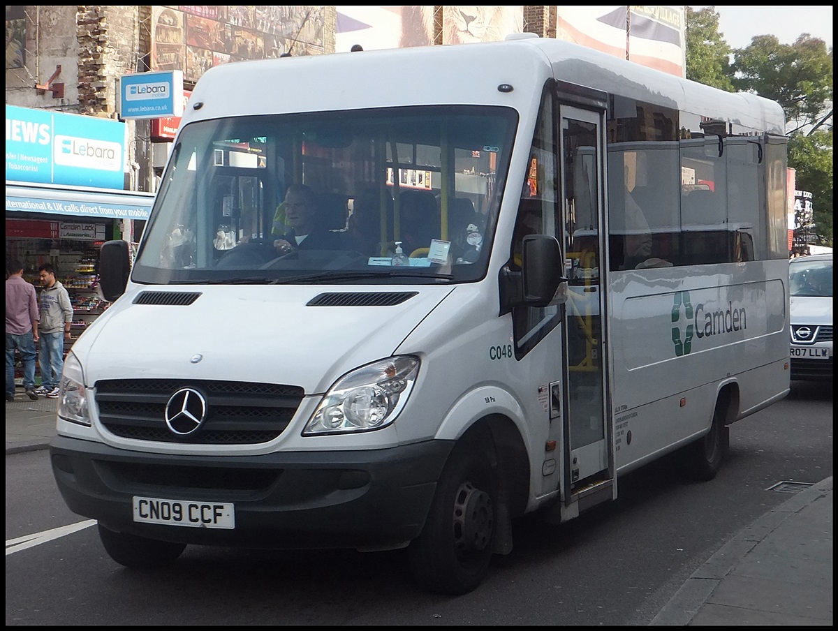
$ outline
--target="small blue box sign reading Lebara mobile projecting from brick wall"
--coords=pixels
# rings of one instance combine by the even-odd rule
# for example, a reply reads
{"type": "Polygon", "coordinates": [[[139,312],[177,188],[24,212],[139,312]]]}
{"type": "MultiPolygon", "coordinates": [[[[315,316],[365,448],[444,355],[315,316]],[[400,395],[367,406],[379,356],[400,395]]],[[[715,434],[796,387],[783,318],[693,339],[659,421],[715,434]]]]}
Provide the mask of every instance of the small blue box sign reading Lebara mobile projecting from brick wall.
{"type": "Polygon", "coordinates": [[[180,116],[184,113],[183,93],[182,70],[122,75],[119,116],[126,119],[180,116]]]}

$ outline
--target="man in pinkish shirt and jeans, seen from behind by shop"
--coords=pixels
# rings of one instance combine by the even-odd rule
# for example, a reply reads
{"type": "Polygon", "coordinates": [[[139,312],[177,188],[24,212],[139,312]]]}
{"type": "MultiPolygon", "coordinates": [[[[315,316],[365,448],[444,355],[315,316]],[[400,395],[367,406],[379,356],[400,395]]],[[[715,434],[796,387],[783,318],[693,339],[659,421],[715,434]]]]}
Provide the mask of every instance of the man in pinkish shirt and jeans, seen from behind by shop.
{"type": "Polygon", "coordinates": [[[35,393],[35,343],[38,341],[38,297],[32,283],[23,280],[23,263],[6,267],[6,401],[14,401],[14,351],[23,361],[23,390],[32,401],[35,393]]]}

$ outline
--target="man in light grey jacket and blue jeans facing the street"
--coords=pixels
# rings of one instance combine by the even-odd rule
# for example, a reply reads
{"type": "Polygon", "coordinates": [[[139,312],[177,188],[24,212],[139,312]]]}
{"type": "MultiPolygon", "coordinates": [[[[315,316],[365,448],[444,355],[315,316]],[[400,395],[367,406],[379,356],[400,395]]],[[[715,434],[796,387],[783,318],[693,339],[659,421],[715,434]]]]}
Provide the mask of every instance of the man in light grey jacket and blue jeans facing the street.
{"type": "Polygon", "coordinates": [[[54,266],[44,263],[38,268],[38,273],[44,288],[39,297],[41,318],[38,325],[41,387],[35,393],[55,399],[64,368],[64,341],[70,339],[73,305],[70,294],[55,277],[54,266]]]}

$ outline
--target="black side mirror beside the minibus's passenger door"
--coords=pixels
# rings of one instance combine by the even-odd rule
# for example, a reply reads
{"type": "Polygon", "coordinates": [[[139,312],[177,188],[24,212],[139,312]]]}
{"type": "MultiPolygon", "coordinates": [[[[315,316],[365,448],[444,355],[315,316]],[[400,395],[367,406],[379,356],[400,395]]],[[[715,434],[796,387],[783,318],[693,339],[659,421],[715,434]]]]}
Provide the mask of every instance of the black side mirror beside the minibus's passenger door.
{"type": "Polygon", "coordinates": [[[556,237],[530,235],[524,237],[521,256],[521,277],[524,283],[524,304],[546,307],[564,303],[567,299],[566,282],[562,276],[564,259],[556,237]],[[559,290],[564,288],[565,291],[559,290]]]}

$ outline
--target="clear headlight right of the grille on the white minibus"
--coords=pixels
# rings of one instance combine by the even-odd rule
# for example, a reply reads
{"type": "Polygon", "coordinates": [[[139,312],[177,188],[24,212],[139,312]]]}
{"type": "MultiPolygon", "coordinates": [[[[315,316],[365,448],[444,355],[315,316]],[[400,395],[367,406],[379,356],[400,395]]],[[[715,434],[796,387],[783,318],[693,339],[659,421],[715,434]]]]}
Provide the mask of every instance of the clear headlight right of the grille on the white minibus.
{"type": "Polygon", "coordinates": [[[410,396],[419,359],[391,357],[344,375],[328,390],[303,436],[367,432],[390,425],[410,396]]]}

